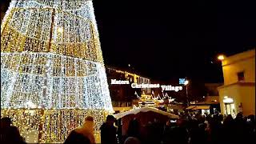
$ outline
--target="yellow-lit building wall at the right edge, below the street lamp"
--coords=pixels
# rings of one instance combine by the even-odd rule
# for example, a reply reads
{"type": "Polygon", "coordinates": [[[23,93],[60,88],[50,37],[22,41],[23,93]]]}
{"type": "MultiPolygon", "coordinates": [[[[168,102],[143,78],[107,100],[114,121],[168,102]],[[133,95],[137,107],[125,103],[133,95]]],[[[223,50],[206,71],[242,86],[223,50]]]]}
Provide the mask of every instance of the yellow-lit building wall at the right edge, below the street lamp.
{"type": "Polygon", "coordinates": [[[255,114],[255,50],[226,58],[222,70],[224,86],[218,87],[222,114],[226,112],[224,97],[233,98],[235,114],[239,107],[244,115],[255,114]],[[244,72],[244,80],[238,81],[238,72],[244,72]]]}

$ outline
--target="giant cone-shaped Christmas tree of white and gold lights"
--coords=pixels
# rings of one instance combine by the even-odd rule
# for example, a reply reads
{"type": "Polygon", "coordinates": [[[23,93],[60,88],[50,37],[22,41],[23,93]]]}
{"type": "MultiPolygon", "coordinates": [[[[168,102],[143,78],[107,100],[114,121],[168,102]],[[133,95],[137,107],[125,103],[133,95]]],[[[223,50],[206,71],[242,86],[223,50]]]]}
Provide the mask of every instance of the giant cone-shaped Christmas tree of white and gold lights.
{"type": "Polygon", "coordinates": [[[63,142],[113,111],[90,0],[13,0],[1,25],[1,117],[27,142],[63,142]],[[34,138],[31,138],[31,137],[34,138]]]}

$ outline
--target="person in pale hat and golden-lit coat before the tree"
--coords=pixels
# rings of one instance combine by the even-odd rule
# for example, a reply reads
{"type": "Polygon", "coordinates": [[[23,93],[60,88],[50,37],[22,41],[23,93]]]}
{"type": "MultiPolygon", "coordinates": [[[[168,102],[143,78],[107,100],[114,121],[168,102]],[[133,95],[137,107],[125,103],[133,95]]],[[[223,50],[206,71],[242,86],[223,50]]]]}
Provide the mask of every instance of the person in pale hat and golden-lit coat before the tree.
{"type": "Polygon", "coordinates": [[[94,118],[87,116],[83,125],[72,130],[64,143],[95,144],[94,118]]]}

